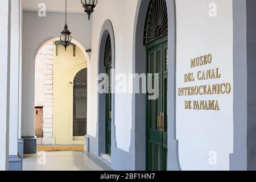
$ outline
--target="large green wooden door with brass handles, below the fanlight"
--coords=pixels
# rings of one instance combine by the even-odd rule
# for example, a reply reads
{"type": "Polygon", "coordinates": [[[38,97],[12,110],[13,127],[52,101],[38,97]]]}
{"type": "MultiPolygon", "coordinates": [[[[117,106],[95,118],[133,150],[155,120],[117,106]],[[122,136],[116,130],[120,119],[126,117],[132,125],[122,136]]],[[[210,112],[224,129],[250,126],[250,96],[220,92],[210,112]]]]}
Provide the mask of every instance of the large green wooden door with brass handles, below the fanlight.
{"type": "MultiPolygon", "coordinates": [[[[167,169],[167,77],[168,46],[167,36],[146,45],[147,73],[159,74],[159,97],[148,100],[147,94],[147,170],[167,169]]],[[[154,81],[155,76],[148,78],[154,81]]],[[[155,85],[154,85],[155,86],[155,85]]]]}

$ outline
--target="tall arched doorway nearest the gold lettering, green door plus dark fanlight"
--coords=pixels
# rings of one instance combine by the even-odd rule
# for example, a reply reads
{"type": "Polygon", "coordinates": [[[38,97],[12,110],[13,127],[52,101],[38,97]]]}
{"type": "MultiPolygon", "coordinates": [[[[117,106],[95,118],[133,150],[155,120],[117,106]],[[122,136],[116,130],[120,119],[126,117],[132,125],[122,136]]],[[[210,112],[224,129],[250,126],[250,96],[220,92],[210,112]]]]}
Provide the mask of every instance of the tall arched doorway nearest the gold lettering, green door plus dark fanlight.
{"type": "MultiPolygon", "coordinates": [[[[146,101],[146,169],[167,169],[168,14],[166,0],[151,0],[144,28],[148,81],[159,81],[159,97],[146,101]],[[156,75],[159,77],[156,77],[156,75]]],[[[157,86],[157,85],[154,85],[157,86]]],[[[150,94],[147,93],[147,96],[150,94]]]]}

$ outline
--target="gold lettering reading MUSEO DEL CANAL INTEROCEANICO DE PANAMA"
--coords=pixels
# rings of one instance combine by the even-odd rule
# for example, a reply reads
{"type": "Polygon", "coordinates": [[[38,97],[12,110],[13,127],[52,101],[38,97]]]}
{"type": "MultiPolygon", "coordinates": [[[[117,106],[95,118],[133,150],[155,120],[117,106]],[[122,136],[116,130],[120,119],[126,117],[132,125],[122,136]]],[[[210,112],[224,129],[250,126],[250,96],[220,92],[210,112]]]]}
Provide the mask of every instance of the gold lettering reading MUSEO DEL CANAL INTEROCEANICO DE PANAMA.
{"type": "MultiPolygon", "coordinates": [[[[190,67],[196,68],[203,65],[210,65],[212,63],[212,54],[196,57],[190,60],[190,67]]],[[[206,70],[200,70],[196,73],[185,73],[184,83],[193,82],[196,79],[198,81],[217,80],[221,78],[219,68],[212,68],[206,70]]],[[[177,95],[179,97],[184,96],[211,96],[219,94],[230,94],[232,91],[231,84],[227,83],[216,83],[216,84],[204,84],[195,86],[186,86],[178,88],[177,95]]],[[[202,101],[188,101],[184,103],[184,109],[193,110],[220,110],[220,106],[217,100],[202,100],[202,101]]]]}

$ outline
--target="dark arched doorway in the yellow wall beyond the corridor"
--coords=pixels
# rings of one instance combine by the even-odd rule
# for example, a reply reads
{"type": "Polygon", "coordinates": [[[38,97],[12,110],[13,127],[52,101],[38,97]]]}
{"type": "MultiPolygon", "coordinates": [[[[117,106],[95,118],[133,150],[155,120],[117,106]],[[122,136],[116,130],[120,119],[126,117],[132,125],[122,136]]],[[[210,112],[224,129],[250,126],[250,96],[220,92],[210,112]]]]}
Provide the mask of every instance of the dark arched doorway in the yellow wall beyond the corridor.
{"type": "Polygon", "coordinates": [[[76,74],[73,85],[73,137],[82,137],[87,134],[87,68],[76,74]]]}

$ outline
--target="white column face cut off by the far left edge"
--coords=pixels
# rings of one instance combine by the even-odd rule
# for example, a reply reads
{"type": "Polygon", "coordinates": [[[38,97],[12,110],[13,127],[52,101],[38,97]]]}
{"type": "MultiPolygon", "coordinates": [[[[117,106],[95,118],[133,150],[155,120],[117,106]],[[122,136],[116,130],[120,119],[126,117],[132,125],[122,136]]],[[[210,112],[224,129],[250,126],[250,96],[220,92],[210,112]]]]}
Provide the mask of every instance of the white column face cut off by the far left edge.
{"type": "Polygon", "coordinates": [[[9,168],[10,1],[0,1],[0,170],[9,168]]]}

